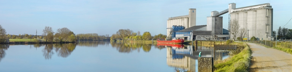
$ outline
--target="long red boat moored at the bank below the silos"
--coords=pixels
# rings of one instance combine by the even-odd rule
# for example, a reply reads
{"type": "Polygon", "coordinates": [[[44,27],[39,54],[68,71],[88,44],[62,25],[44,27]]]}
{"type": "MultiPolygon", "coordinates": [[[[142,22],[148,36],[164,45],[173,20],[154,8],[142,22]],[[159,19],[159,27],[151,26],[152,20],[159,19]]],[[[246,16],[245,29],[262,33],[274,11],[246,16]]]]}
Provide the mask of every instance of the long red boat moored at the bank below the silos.
{"type": "Polygon", "coordinates": [[[172,40],[159,40],[157,39],[157,43],[167,43],[167,44],[181,44],[184,43],[185,40],[184,39],[172,39],[172,40]]]}

